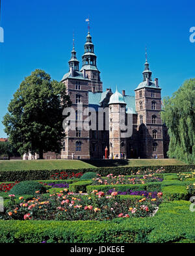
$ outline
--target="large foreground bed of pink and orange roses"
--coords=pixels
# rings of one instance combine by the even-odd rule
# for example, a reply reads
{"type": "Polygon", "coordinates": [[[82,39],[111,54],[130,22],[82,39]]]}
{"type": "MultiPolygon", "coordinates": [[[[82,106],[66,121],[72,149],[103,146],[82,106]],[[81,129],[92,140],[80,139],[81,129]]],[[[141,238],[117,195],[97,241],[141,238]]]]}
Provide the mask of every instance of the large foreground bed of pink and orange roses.
{"type": "Polygon", "coordinates": [[[25,201],[15,195],[10,196],[10,203],[3,220],[112,220],[114,218],[148,217],[157,210],[162,201],[162,194],[154,201],[151,195],[140,200],[122,200],[117,192],[106,195],[94,190],[90,195],[73,195],[67,189],[55,194],[38,194],[32,200],[25,201]]]}

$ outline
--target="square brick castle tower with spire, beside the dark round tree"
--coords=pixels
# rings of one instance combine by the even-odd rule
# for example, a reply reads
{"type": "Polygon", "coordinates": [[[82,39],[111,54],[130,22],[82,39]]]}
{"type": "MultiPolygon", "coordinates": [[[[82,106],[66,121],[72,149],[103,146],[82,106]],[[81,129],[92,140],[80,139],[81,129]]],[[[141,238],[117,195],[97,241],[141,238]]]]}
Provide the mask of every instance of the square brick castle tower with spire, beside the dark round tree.
{"type": "Polygon", "coordinates": [[[62,83],[66,86],[66,93],[72,101],[72,114],[67,118],[61,158],[89,159],[90,142],[89,132],[84,129],[84,122],[88,117],[88,83],[85,72],[79,71],[79,61],[73,44],[72,57],[69,64],[69,72],[62,78],[62,83]],[[84,114],[85,113],[85,114],[84,114]]]}

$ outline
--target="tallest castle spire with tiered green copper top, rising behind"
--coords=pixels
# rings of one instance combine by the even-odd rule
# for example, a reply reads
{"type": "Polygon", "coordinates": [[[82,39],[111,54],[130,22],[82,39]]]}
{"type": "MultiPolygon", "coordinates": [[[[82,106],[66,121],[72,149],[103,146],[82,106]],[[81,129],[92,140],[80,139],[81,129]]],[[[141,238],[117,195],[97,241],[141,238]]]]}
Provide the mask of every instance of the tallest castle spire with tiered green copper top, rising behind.
{"type": "Polygon", "coordinates": [[[86,43],[84,46],[85,53],[82,56],[83,66],[81,72],[86,73],[86,77],[90,79],[89,91],[102,92],[102,82],[100,80],[100,72],[97,68],[97,56],[94,53],[94,44],[92,43],[92,36],[90,32],[86,36],[86,43]],[[85,71],[84,71],[85,70],[85,71]]]}

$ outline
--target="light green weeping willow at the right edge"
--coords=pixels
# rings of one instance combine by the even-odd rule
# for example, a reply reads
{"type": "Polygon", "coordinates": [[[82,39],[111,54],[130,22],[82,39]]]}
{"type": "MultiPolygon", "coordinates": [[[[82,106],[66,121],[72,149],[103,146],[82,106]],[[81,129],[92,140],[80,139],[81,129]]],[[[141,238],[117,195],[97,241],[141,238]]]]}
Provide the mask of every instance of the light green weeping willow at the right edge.
{"type": "Polygon", "coordinates": [[[163,105],[161,118],[170,136],[168,156],[195,163],[195,78],[185,81],[171,98],[164,98],[163,105]]]}

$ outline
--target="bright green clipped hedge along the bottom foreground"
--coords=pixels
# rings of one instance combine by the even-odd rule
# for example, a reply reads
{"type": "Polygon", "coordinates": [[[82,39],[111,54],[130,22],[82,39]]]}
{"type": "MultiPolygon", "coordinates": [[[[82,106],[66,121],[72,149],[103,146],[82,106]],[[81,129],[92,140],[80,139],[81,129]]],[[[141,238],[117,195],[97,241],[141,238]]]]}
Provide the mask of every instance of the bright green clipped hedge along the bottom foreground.
{"type": "Polygon", "coordinates": [[[4,221],[1,243],[195,242],[195,215],[187,201],[162,203],[152,218],[112,221],[4,221]]]}

